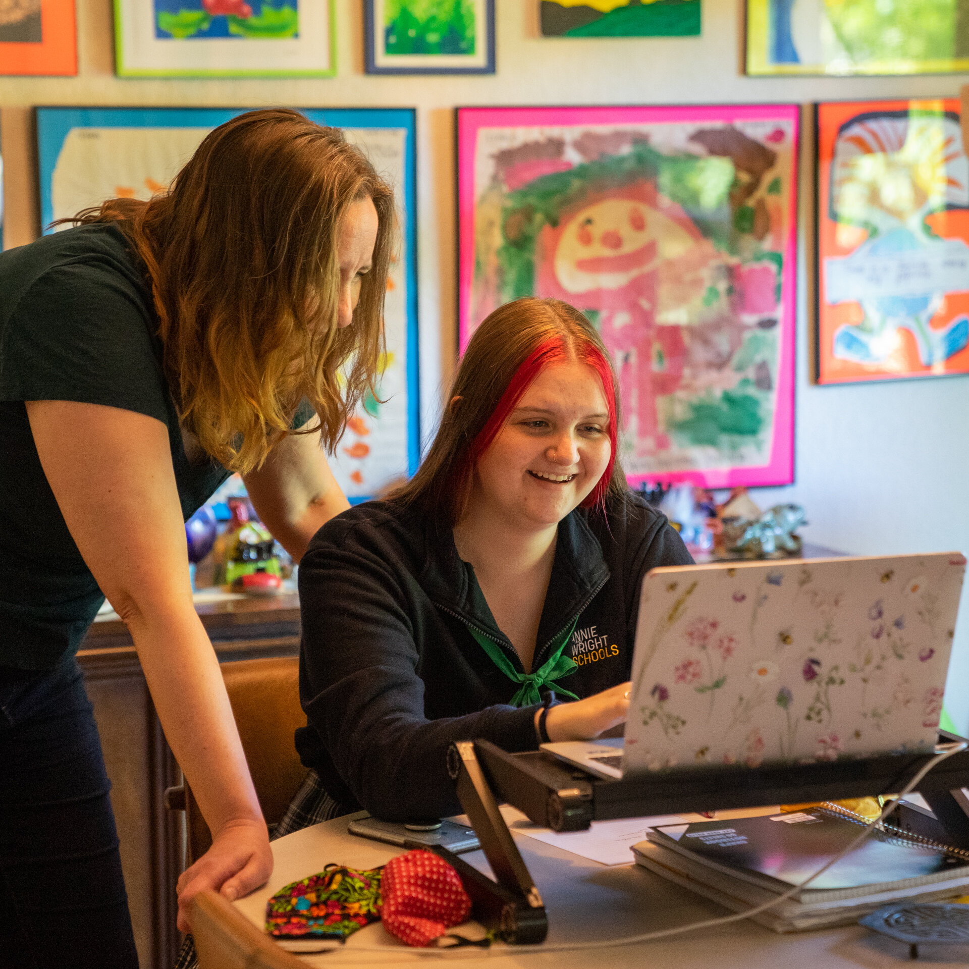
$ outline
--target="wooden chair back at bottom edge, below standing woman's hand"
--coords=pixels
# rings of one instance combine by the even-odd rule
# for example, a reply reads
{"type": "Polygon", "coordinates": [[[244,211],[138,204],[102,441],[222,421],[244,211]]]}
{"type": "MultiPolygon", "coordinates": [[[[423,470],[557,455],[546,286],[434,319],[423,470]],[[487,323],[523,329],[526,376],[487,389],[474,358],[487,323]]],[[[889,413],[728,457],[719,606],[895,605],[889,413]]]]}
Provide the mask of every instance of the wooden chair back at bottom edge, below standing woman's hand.
{"type": "Polygon", "coordinates": [[[214,891],[192,899],[192,934],[199,969],[305,969],[214,891]]]}

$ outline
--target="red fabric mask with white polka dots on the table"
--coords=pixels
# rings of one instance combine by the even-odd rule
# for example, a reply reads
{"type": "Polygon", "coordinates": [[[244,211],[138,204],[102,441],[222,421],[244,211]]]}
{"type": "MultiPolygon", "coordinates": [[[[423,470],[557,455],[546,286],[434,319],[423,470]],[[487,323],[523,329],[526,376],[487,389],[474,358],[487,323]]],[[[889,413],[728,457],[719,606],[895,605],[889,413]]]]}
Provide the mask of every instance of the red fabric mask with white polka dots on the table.
{"type": "Polygon", "coordinates": [[[381,891],[384,927],[409,946],[426,946],[471,911],[457,872],[429,851],[409,851],[388,861],[381,891]]]}

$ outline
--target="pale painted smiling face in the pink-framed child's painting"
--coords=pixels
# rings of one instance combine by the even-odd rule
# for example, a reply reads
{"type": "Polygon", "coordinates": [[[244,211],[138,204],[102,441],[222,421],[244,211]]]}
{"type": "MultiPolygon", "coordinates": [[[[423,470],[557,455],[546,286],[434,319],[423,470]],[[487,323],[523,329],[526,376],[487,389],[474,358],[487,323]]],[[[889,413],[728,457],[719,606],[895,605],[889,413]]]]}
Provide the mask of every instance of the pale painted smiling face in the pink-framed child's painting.
{"type": "Polygon", "coordinates": [[[604,199],[580,209],[555,247],[555,275],[569,293],[619,289],[661,259],[675,259],[693,237],[638,199],[604,199]]]}

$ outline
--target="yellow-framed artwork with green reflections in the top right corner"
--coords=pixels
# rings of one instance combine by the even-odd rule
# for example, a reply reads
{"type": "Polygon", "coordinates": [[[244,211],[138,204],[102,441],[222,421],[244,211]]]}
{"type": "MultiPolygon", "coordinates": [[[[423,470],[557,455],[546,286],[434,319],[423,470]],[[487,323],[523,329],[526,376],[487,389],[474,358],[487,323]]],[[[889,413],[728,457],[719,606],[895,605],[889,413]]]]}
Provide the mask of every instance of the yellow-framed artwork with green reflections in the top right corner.
{"type": "Polygon", "coordinates": [[[747,74],[969,71],[969,0],[746,0],[747,74]]]}

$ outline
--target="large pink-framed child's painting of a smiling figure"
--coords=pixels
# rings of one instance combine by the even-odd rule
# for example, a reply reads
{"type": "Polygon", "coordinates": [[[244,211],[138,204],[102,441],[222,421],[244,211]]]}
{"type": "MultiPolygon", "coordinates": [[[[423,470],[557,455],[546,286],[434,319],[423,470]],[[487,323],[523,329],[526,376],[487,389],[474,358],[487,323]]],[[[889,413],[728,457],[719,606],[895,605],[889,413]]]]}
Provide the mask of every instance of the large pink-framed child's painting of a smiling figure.
{"type": "Polygon", "coordinates": [[[459,341],[556,297],[599,328],[632,482],[794,479],[798,108],[458,110],[459,341]]]}

